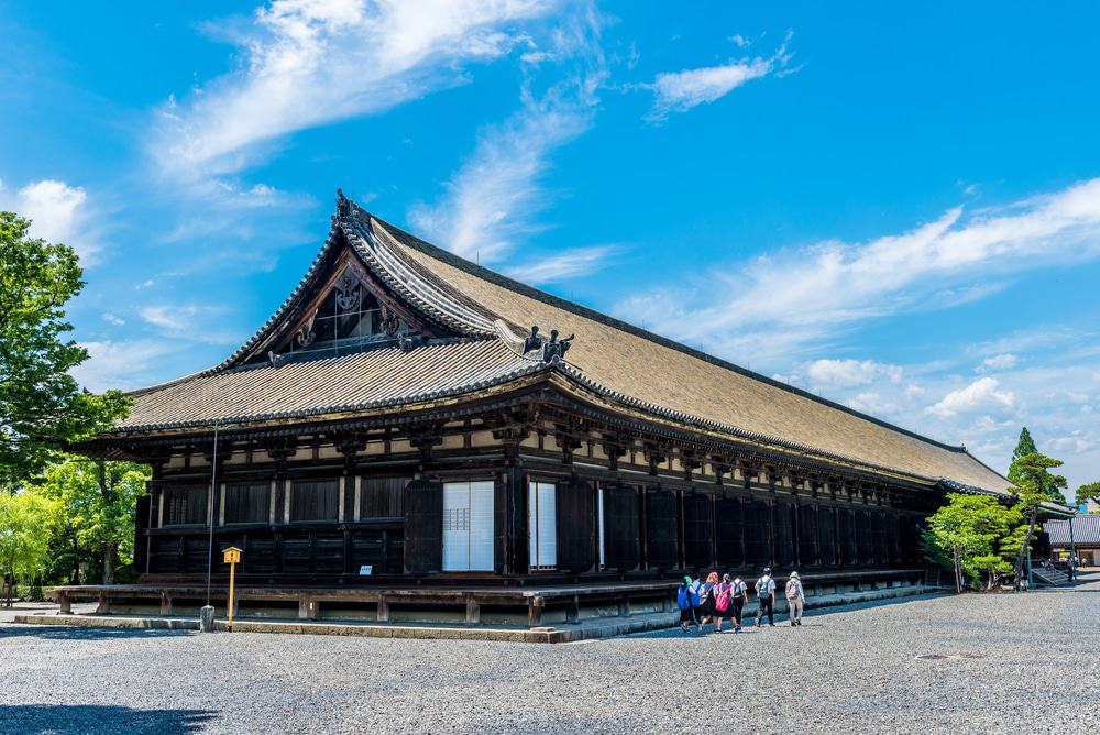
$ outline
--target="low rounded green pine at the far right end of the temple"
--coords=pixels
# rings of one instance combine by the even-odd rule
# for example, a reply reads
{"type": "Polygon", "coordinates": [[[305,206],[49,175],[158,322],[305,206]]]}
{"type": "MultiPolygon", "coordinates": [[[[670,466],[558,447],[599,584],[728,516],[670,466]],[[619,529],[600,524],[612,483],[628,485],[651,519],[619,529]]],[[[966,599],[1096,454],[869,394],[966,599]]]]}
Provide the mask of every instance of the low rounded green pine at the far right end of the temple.
{"type": "Polygon", "coordinates": [[[949,560],[957,592],[967,580],[975,586],[985,581],[987,590],[994,589],[1001,575],[1012,571],[1004,550],[1005,545],[1011,548],[1023,516],[989,495],[950,493],[947,501],[928,517],[927,544],[949,560]]]}

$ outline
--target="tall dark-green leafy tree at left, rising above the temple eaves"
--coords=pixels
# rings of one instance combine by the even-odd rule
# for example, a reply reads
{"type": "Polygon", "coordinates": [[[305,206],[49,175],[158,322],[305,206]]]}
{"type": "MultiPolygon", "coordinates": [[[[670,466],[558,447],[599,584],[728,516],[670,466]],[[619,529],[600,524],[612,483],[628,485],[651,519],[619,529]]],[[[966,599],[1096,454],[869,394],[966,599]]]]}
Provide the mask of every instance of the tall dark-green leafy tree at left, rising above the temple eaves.
{"type": "Polygon", "coordinates": [[[65,304],[84,287],[72,248],[28,235],[0,212],[0,486],[41,473],[66,442],[125,415],[117,391],[82,393],[69,371],[88,352],[65,336],[65,304]]]}

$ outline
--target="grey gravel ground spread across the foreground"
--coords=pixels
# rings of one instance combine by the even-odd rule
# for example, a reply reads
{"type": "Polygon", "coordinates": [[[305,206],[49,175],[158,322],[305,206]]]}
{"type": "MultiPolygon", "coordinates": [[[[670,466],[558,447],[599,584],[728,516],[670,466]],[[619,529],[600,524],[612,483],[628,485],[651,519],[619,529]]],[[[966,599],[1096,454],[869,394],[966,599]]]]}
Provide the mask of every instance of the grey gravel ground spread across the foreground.
{"type": "Polygon", "coordinates": [[[558,646],[0,624],[0,661],[20,735],[1096,733],[1100,574],[558,646]]]}

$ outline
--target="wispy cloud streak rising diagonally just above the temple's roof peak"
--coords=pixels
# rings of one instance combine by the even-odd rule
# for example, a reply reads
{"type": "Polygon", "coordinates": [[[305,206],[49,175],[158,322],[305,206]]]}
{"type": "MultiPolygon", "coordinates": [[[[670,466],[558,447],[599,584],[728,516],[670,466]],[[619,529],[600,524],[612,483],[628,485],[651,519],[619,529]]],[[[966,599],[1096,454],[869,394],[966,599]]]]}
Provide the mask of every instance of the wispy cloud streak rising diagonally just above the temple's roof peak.
{"type": "Polygon", "coordinates": [[[601,19],[591,11],[553,34],[553,46],[535,64],[578,59],[580,68],[542,95],[524,84],[521,107],[503,123],[479,131],[473,154],[447,183],[433,205],[409,209],[413,224],[452,252],[482,262],[504,259],[552,200],[542,177],[552,154],[588,130],[606,76],[598,46],[601,19]]]}

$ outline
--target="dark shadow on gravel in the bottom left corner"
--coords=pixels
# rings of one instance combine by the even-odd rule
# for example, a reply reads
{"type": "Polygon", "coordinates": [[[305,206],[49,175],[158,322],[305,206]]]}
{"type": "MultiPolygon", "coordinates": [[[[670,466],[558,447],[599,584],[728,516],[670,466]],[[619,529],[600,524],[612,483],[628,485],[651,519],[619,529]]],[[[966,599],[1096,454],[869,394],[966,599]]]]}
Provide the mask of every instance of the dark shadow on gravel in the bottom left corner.
{"type": "Polygon", "coordinates": [[[132,710],[99,704],[0,704],[0,735],[185,735],[213,718],[204,710],[132,710]]]}

